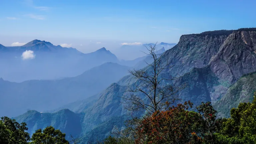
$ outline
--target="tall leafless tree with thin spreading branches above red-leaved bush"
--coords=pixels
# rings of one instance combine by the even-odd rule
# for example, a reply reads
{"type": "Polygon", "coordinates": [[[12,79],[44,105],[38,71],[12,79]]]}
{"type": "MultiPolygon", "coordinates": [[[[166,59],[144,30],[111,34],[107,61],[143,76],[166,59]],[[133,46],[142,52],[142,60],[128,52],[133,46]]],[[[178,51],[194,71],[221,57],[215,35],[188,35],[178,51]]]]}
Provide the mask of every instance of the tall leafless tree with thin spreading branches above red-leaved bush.
{"type": "Polygon", "coordinates": [[[145,46],[153,59],[152,63],[147,63],[148,67],[140,70],[130,70],[129,73],[138,81],[128,85],[126,92],[130,95],[122,96],[121,103],[129,111],[146,110],[152,115],[156,111],[166,110],[171,104],[178,100],[177,93],[186,87],[186,84],[178,87],[168,84],[167,81],[174,81],[175,77],[165,78],[161,74],[173,66],[163,59],[163,54],[156,54],[156,44],[145,46]],[[137,95],[140,93],[141,95],[137,95]]]}

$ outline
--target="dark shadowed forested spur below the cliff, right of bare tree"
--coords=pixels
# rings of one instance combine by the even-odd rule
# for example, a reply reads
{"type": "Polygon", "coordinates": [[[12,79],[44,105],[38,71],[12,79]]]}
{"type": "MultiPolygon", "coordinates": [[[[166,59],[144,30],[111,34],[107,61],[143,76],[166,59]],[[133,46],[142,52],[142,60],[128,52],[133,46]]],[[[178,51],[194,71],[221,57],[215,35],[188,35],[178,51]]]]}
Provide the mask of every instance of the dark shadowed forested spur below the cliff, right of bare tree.
{"type": "Polygon", "coordinates": [[[181,101],[178,103],[190,100],[196,106],[200,105],[201,102],[211,101],[214,88],[220,85],[218,77],[211,71],[209,66],[193,68],[190,72],[180,77],[175,85],[179,86],[184,83],[188,87],[179,93],[181,101]]]}

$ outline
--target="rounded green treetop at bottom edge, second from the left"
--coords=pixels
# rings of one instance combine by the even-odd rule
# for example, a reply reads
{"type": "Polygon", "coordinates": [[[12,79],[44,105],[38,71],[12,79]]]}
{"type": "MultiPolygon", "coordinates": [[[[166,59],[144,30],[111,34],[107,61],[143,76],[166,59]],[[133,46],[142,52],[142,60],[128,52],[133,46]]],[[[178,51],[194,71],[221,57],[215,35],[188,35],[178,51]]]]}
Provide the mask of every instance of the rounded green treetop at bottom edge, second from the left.
{"type": "Polygon", "coordinates": [[[69,144],[65,139],[66,134],[54,127],[46,127],[44,130],[38,129],[32,135],[31,144],[69,144]]]}

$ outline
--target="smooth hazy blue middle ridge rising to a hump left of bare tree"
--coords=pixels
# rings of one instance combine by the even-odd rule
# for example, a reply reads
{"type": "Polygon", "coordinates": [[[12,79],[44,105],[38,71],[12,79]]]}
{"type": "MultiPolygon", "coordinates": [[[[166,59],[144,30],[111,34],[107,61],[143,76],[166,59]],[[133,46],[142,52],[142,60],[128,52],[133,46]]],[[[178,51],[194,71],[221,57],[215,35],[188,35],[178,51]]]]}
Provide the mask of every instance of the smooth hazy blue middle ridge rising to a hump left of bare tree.
{"type": "Polygon", "coordinates": [[[0,116],[17,116],[27,110],[53,110],[99,93],[128,75],[127,66],[105,63],[76,77],[60,80],[0,80],[0,116]],[[47,106],[47,107],[45,107],[47,106]]]}

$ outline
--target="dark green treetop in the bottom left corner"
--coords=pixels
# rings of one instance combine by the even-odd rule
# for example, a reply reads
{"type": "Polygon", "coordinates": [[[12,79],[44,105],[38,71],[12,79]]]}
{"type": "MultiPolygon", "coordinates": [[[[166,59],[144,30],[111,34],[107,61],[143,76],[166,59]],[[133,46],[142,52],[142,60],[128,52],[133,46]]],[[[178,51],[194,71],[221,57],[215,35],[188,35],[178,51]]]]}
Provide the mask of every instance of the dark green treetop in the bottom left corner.
{"type": "Polygon", "coordinates": [[[19,124],[15,119],[1,117],[0,143],[1,144],[27,144],[30,140],[26,123],[19,124]]]}

